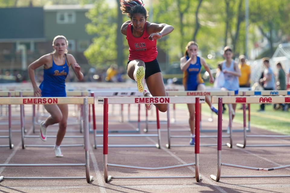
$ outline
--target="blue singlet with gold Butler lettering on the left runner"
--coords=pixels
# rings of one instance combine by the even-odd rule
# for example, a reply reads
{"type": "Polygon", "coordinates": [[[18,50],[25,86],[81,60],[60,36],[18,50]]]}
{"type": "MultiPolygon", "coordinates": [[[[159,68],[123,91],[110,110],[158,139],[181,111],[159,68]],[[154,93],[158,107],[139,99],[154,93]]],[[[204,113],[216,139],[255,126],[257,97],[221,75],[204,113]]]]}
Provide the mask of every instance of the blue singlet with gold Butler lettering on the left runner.
{"type": "Polygon", "coordinates": [[[56,65],[52,56],[52,67],[43,69],[43,81],[39,85],[42,97],[66,97],[66,76],[69,66],[66,61],[63,65],[56,65]]]}

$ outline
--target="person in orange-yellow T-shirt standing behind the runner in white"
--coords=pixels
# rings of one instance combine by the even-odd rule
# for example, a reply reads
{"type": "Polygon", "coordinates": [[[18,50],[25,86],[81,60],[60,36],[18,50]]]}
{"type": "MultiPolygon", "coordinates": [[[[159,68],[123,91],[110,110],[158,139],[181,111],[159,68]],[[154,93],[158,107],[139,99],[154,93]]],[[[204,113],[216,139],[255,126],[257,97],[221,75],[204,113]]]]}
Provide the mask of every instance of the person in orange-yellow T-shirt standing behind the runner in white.
{"type": "Polygon", "coordinates": [[[250,87],[251,67],[246,64],[244,55],[240,55],[239,60],[239,68],[241,71],[241,76],[239,77],[240,87],[250,87]]]}

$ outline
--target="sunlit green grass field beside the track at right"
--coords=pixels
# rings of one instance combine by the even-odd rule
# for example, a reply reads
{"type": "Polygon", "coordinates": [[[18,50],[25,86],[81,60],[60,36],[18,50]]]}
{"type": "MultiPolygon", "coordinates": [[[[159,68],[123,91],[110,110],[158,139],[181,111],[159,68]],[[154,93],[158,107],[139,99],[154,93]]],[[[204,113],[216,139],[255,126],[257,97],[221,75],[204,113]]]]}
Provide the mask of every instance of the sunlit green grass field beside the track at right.
{"type": "MultiPolygon", "coordinates": [[[[214,104],[214,106],[217,108],[218,105],[214,104]]],[[[243,110],[239,109],[241,106],[241,104],[237,104],[234,122],[243,123],[243,110]]],[[[187,105],[177,104],[176,108],[187,109],[187,105]]],[[[228,109],[227,105],[226,108],[228,109]]],[[[289,111],[275,110],[273,109],[272,104],[266,105],[264,112],[257,112],[258,109],[259,104],[251,104],[251,126],[279,132],[281,134],[290,134],[290,119],[288,118],[290,115],[289,111]]],[[[207,104],[203,104],[201,112],[205,115],[210,115],[211,110],[207,104]]],[[[223,119],[229,119],[227,110],[223,114],[223,119]]]]}

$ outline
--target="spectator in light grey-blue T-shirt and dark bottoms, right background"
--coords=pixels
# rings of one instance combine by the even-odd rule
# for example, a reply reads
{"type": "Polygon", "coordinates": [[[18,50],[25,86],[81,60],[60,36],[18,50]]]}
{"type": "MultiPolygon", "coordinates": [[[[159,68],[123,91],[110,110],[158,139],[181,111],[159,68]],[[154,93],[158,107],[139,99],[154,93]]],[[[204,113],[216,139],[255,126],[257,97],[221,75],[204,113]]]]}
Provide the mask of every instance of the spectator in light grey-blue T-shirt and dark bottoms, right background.
{"type": "MultiPolygon", "coordinates": [[[[275,75],[273,73],[272,68],[269,64],[269,58],[263,58],[263,64],[265,65],[265,70],[263,73],[263,77],[260,79],[260,82],[263,82],[264,90],[275,90],[275,75]]],[[[265,111],[265,104],[260,105],[260,109],[258,111],[265,111]]]]}

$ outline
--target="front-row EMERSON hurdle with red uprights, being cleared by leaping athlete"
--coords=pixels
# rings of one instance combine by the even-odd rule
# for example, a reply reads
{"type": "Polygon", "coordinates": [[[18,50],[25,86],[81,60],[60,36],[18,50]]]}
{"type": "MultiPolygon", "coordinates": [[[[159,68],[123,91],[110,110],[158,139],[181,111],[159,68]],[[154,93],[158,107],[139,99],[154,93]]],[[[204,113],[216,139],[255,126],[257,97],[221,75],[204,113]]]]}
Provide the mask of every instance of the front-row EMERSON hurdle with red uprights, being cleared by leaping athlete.
{"type": "MultiPolygon", "coordinates": [[[[197,182],[200,180],[199,175],[199,119],[195,122],[197,129],[195,130],[196,144],[195,144],[195,163],[176,165],[176,166],[166,166],[158,168],[150,167],[137,167],[137,166],[125,166],[118,164],[108,163],[108,104],[140,104],[140,103],[150,103],[152,101],[154,104],[169,104],[169,103],[195,103],[196,109],[199,108],[199,101],[205,101],[205,97],[192,97],[192,96],[173,96],[173,97],[98,97],[98,104],[104,104],[104,137],[103,137],[103,155],[104,155],[104,180],[109,182],[111,179],[179,179],[179,178],[195,178],[197,182]],[[108,176],[108,166],[111,167],[121,167],[130,169],[143,169],[143,170],[162,170],[162,169],[172,169],[180,167],[195,166],[195,176],[108,176]]],[[[199,112],[197,113],[199,117],[199,112]]],[[[160,130],[158,129],[158,134],[160,130]]],[[[160,143],[160,135],[158,138],[160,143]]]]}

